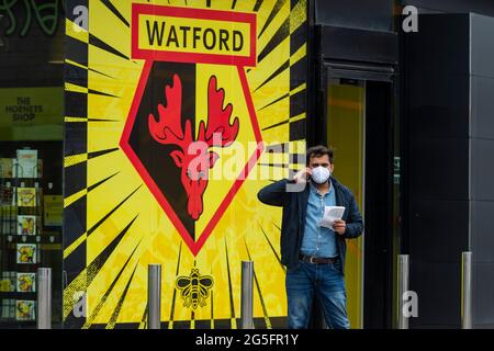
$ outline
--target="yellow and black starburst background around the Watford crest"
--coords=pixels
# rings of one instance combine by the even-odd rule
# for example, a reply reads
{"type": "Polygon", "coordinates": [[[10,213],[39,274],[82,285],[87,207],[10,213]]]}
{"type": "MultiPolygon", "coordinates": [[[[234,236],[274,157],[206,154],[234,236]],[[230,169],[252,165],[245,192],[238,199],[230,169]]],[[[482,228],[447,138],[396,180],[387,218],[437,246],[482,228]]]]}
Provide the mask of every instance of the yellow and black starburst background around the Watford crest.
{"type": "MultiPolygon", "coordinates": [[[[70,124],[86,126],[87,145],[86,152],[69,155],[66,147],[66,177],[83,165],[86,186],[66,196],[65,208],[75,211],[83,202],[80,207],[86,210],[86,230],[65,242],[67,264],[76,260],[80,250],[85,262],[65,288],[64,319],[69,321],[72,318],[79,303],[78,293],[83,292],[83,328],[113,328],[117,324],[135,324],[145,328],[147,265],[161,263],[161,320],[168,328],[236,328],[240,309],[240,265],[243,260],[252,260],[254,316],[262,327],[277,326],[274,321],[287,315],[284,268],[279,254],[281,210],[259,203],[257,192],[270,183],[269,179],[259,180],[262,174],[270,174],[271,180],[280,179],[304,163],[304,159],[294,162],[291,157],[305,151],[304,138],[293,138],[291,128],[303,125],[305,106],[293,114],[291,103],[294,97],[305,94],[306,89],[304,76],[293,79],[294,67],[306,59],[306,43],[303,41],[294,47],[292,37],[306,25],[306,1],[89,0],[89,14],[88,31],[70,20],[66,23],[68,41],[87,45],[88,57],[87,63],[70,55],[66,60],[69,69],[87,75],[87,86],[77,80],[66,83],[67,94],[81,97],[81,103],[87,101],[87,115],[66,115],[65,118],[68,127],[70,124]],[[132,3],[257,14],[258,63],[245,71],[266,151],[197,257],[182,242],[119,147],[144,67],[143,60],[131,58],[132,3]],[[192,310],[183,306],[176,280],[180,275],[189,275],[194,267],[201,274],[212,275],[214,285],[206,306],[192,310]]],[[[236,72],[236,68],[212,65],[199,69],[202,72],[207,70],[222,77],[236,72]]],[[[207,73],[202,77],[209,78],[207,73]]],[[[198,77],[198,86],[201,84],[207,84],[206,78],[201,80],[198,77]]],[[[225,102],[242,97],[234,94],[226,92],[225,102]]],[[[205,109],[205,101],[199,98],[197,101],[198,111],[205,109]]],[[[238,114],[245,115],[242,111],[238,114]]],[[[252,139],[248,135],[244,138],[252,139]]],[[[215,202],[221,199],[214,194],[222,188],[224,185],[220,183],[209,186],[205,196],[210,202],[205,205],[210,207],[204,210],[204,217],[217,207],[215,202]]],[[[198,225],[199,231],[205,226],[204,223],[198,225]]],[[[69,227],[66,230],[70,230],[69,227]]]]}

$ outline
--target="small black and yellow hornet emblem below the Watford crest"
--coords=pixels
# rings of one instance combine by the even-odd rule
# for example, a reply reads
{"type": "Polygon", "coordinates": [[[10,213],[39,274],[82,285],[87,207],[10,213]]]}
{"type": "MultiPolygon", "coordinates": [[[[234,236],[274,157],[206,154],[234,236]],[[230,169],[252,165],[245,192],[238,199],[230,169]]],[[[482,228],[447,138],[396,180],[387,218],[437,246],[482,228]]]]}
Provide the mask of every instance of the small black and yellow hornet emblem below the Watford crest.
{"type": "Polygon", "coordinates": [[[211,275],[201,275],[199,269],[193,268],[189,276],[181,275],[177,278],[176,286],[181,291],[180,296],[184,299],[183,306],[193,309],[198,305],[203,307],[206,305],[206,298],[210,296],[210,288],[214,281],[211,275]]]}

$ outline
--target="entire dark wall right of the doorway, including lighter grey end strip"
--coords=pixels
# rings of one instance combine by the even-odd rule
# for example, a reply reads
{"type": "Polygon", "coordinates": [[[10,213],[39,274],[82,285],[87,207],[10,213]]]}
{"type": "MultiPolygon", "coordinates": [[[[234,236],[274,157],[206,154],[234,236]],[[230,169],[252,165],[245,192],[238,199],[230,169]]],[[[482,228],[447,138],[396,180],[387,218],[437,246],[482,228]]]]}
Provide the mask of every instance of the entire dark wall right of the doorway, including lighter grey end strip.
{"type": "Polygon", "coordinates": [[[420,15],[404,37],[413,328],[459,328],[461,251],[473,322],[494,327],[494,19],[420,15]],[[470,50],[471,48],[471,50],[470,50]]]}

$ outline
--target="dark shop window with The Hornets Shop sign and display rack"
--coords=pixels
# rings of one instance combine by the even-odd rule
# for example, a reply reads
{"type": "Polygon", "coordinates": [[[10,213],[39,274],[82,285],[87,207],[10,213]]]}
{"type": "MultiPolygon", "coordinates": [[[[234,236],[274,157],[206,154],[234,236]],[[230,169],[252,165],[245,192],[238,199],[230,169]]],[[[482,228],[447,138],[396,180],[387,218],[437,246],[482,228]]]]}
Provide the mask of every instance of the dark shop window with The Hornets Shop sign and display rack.
{"type": "Polygon", "coordinates": [[[61,322],[61,1],[0,1],[0,328],[36,327],[37,269],[61,322]]]}

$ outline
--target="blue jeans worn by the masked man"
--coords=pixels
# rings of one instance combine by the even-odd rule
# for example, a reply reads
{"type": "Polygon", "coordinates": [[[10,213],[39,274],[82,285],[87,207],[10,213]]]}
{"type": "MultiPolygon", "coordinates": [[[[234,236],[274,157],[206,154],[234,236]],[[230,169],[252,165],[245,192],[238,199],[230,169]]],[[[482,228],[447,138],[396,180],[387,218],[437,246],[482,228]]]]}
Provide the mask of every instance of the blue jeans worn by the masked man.
{"type": "Polygon", "coordinates": [[[329,328],[350,328],[340,264],[339,260],[328,264],[300,262],[297,268],[287,270],[289,328],[307,328],[314,296],[321,303],[329,328]]]}

